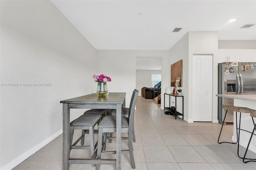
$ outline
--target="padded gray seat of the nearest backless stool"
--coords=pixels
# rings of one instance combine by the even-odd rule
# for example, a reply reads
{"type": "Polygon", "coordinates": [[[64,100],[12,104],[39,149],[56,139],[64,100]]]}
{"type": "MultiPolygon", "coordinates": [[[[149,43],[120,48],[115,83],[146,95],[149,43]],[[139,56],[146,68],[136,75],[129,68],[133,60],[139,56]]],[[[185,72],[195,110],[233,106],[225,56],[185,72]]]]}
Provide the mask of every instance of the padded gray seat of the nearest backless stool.
{"type": "Polygon", "coordinates": [[[70,123],[70,126],[74,127],[90,127],[95,126],[100,120],[101,115],[88,113],[84,114],[70,123]]]}

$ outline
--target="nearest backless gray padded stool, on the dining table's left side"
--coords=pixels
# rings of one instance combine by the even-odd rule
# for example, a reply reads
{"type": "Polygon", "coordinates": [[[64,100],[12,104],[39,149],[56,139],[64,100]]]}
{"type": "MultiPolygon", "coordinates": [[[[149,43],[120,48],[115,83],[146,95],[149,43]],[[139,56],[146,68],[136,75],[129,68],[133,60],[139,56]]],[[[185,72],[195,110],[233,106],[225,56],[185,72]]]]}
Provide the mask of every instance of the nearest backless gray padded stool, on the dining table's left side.
{"type": "MultiPolygon", "coordinates": [[[[90,149],[91,151],[91,158],[96,158],[96,147],[98,142],[94,144],[94,127],[97,125],[100,120],[102,119],[102,115],[94,114],[94,113],[88,113],[84,114],[74,121],[70,123],[70,150],[71,149],[90,149]],[[84,139],[84,134],[82,134],[73,144],[73,135],[74,135],[74,129],[82,129],[82,130],[88,130],[89,136],[90,136],[90,146],[84,146],[80,145],[77,146],[76,144],[84,139]]],[[[92,166],[94,166],[92,164],[92,166]]]]}

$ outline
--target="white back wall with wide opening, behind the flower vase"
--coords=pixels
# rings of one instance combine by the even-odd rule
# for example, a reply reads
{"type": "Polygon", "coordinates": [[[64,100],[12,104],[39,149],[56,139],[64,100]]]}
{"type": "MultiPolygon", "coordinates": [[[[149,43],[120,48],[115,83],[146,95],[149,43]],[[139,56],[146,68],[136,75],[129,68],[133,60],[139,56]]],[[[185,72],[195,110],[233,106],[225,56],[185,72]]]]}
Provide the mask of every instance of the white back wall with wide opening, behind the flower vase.
{"type": "MultiPolygon", "coordinates": [[[[162,87],[170,79],[167,50],[97,50],[96,74],[106,74],[112,81],[108,83],[110,92],[126,92],[126,107],[130,105],[132,91],[136,88],[136,57],[162,57],[162,87]]],[[[162,91],[163,93],[163,91],[162,91]]],[[[163,103],[163,102],[162,102],[163,103]]],[[[161,104],[163,109],[163,104],[161,104]]]]}

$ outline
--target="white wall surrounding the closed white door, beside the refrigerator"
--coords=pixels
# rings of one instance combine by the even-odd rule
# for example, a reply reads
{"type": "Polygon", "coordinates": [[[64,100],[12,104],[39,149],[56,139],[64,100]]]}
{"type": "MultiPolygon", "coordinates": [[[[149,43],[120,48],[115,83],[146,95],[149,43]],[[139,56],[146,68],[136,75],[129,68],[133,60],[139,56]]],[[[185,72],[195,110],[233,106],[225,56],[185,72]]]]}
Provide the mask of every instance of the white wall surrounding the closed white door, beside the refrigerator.
{"type": "Polygon", "coordinates": [[[213,55],[212,121],[218,123],[218,32],[188,32],[169,50],[170,64],[183,60],[184,120],[193,122],[192,117],[192,70],[193,54],[213,55]]]}

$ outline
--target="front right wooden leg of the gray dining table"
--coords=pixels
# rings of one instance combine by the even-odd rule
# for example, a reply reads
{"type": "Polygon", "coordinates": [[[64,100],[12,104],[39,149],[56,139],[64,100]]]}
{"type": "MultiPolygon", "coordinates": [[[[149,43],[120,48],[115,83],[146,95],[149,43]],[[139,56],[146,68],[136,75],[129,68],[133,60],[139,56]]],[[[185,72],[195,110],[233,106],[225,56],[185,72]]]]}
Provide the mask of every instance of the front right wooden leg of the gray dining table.
{"type": "Polygon", "coordinates": [[[116,105],[116,170],[121,170],[121,119],[122,105],[116,105]]]}

